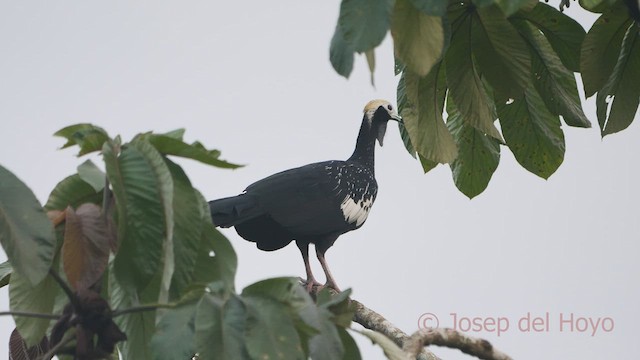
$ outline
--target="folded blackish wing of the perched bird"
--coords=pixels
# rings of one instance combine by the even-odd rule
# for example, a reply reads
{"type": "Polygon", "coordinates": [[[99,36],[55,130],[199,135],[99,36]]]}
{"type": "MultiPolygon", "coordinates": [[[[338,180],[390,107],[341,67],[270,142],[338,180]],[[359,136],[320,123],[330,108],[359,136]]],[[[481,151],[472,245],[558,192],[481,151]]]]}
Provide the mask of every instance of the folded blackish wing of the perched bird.
{"type": "Polygon", "coordinates": [[[338,162],[286,170],[250,185],[246,192],[257,198],[265,213],[294,235],[343,233],[355,226],[344,219],[340,209],[344,195],[340,198],[336,181],[328,171],[338,162]]]}

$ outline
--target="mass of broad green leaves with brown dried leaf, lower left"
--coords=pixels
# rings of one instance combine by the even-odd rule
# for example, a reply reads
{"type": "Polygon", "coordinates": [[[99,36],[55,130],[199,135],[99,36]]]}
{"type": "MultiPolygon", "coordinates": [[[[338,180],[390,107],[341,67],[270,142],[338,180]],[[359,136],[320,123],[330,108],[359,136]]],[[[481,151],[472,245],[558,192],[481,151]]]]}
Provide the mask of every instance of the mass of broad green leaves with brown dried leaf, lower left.
{"type": "Polygon", "coordinates": [[[85,161],[44,208],[0,167],[0,285],[14,314],[40,316],[14,315],[10,356],[359,359],[349,291],[315,302],[296,278],[276,278],[236,292],[236,254],[171,157],[238,165],[183,134],[123,143],[91,124],[60,130],[64,147],[101,152],[105,171],[85,161]]]}

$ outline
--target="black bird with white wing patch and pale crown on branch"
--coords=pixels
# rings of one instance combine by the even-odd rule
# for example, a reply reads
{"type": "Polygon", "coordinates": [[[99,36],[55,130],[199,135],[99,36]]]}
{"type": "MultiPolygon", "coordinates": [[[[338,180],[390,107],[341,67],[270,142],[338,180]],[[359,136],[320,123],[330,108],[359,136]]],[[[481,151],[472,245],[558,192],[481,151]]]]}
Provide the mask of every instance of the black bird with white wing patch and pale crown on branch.
{"type": "Polygon", "coordinates": [[[374,173],[375,142],[382,146],[387,122],[402,122],[393,105],[372,100],[364,115],[353,154],[285,170],[249,185],[237,196],[209,201],[211,219],[222,228],[235,227],[258,249],[274,251],[295,240],[306,272],[307,291],[322,286],[309,263],[309,245],[325,273],[324,286],[340,291],[325,253],[338,237],[360,228],[378,193],[374,173]]]}

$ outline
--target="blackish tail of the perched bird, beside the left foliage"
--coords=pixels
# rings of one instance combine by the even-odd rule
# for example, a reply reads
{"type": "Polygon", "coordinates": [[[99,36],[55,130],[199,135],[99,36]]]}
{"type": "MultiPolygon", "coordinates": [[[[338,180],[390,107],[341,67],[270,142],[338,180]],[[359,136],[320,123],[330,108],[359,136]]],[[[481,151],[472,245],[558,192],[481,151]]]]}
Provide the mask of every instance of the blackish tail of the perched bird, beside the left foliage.
{"type": "Polygon", "coordinates": [[[209,201],[211,220],[216,226],[231,227],[263,214],[251,196],[241,194],[209,201]]]}

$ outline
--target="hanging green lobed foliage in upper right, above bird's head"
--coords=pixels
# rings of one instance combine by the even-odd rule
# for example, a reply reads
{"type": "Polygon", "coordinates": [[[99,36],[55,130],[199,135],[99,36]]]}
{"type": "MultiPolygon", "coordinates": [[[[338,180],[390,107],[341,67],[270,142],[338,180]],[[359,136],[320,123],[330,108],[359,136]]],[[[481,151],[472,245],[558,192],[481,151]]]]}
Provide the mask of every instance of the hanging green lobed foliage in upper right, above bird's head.
{"type": "Polygon", "coordinates": [[[591,126],[575,72],[585,96],[597,94],[602,136],[627,128],[637,112],[637,2],[581,0],[601,14],[588,32],[535,0],[396,0],[391,10],[387,0],[370,3],[371,13],[364,5],[354,10],[358,1],[342,1],[331,63],[348,77],[354,54],[373,54],[389,29],[405,146],[425,172],[448,163],[469,198],[488,186],[500,145],[544,179],[558,169],[565,152],[560,118],[568,126],[591,126]]]}

